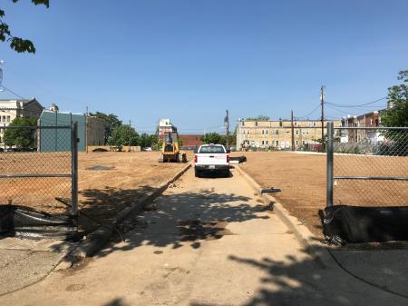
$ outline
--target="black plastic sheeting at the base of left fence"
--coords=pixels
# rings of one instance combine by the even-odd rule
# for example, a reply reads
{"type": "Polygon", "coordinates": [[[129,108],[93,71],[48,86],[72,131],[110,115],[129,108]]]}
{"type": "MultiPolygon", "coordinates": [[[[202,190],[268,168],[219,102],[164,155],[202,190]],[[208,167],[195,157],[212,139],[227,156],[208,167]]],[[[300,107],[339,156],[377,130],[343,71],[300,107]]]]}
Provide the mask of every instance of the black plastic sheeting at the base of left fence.
{"type": "Polygon", "coordinates": [[[18,205],[0,206],[0,234],[21,238],[74,240],[78,233],[76,217],[39,212],[18,205]]]}

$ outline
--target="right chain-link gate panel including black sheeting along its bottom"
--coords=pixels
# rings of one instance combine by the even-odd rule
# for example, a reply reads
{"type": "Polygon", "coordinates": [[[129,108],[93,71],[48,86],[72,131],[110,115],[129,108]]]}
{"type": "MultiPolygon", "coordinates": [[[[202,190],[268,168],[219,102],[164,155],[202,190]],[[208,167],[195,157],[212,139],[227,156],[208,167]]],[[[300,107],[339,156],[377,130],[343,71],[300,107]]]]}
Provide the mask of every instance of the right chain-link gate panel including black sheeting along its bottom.
{"type": "Polygon", "coordinates": [[[327,124],[329,243],[408,240],[408,128],[327,124]]]}

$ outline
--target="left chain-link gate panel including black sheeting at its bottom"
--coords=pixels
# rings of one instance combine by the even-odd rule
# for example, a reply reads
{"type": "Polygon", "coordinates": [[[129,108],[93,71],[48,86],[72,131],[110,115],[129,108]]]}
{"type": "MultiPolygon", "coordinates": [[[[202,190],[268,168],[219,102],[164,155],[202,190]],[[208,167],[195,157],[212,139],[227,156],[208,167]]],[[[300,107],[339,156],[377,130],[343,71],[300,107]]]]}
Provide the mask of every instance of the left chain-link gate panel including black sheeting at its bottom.
{"type": "Polygon", "coordinates": [[[77,232],[78,123],[3,126],[0,137],[0,233],[77,232]]]}

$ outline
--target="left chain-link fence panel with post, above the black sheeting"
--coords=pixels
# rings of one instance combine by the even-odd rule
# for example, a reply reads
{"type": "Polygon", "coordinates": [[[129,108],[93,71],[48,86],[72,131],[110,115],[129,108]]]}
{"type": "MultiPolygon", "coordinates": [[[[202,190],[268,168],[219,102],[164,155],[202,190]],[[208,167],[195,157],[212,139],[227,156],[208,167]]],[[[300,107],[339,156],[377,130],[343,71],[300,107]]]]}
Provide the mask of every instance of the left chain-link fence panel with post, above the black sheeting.
{"type": "Polygon", "coordinates": [[[77,124],[0,127],[0,205],[77,214],[77,124]]]}

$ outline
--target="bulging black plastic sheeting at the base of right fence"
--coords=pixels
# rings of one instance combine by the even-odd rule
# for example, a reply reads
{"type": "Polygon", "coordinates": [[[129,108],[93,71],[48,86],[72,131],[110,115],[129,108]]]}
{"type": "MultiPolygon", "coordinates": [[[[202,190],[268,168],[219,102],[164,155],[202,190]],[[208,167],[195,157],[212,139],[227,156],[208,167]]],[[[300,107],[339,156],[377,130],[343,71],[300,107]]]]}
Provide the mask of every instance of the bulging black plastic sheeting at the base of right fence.
{"type": "Polygon", "coordinates": [[[408,241],[408,206],[334,205],[321,217],[328,242],[408,241]]]}

